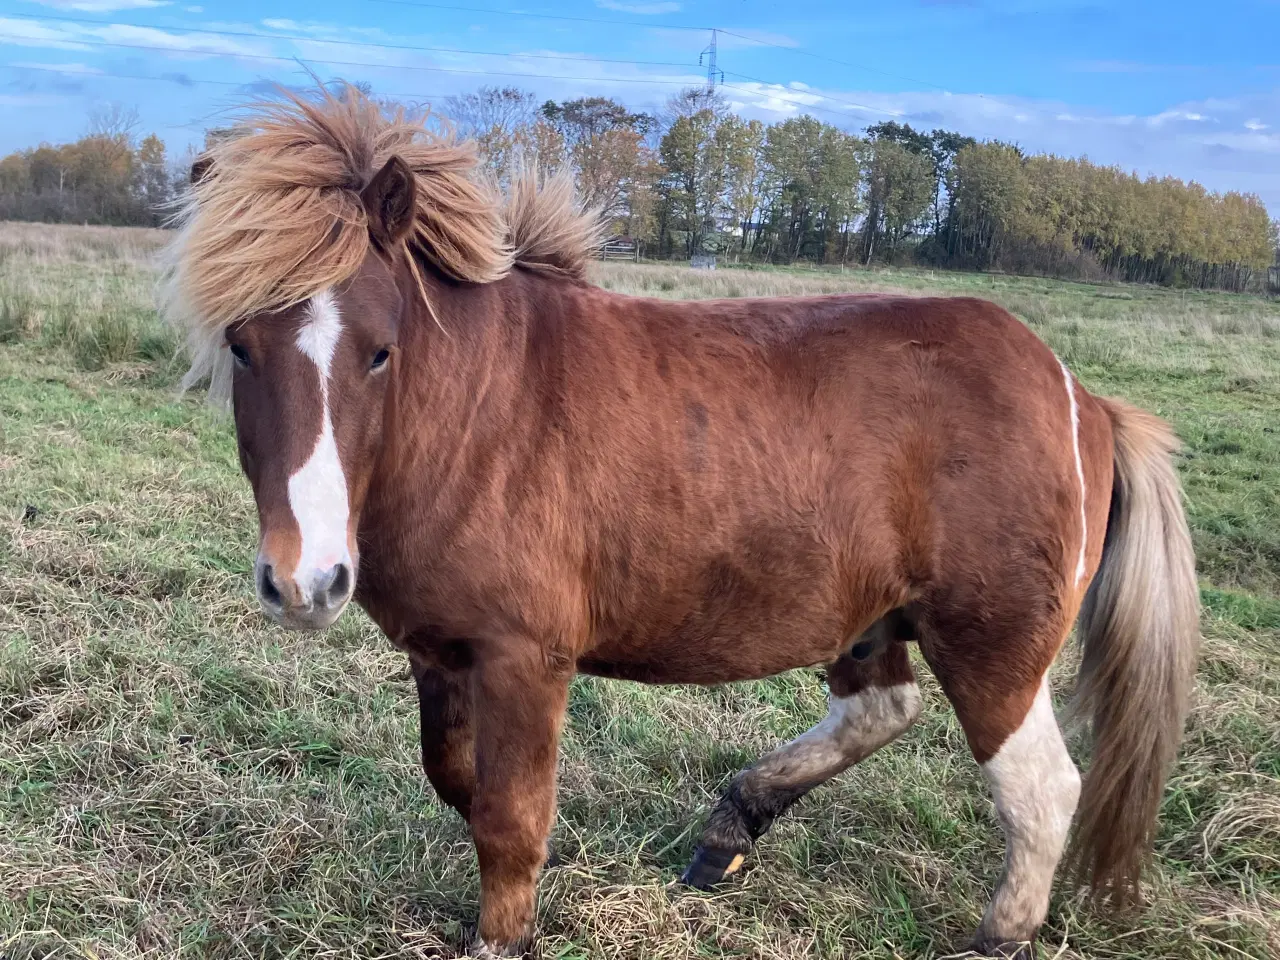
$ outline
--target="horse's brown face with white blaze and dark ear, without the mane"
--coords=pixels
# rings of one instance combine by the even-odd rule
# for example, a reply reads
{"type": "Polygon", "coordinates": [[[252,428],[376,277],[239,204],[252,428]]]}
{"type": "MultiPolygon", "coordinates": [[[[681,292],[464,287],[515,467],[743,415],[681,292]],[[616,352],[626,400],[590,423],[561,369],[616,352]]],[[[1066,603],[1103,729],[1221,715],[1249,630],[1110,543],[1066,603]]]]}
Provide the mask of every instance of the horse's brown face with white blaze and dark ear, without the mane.
{"type": "Polygon", "coordinates": [[[361,195],[372,243],[357,271],[225,329],[239,460],[257,500],[253,581],[262,609],[287,627],[329,626],[356,586],[356,530],[403,311],[381,251],[411,228],[413,189],[404,163],[387,161],[361,195]]]}

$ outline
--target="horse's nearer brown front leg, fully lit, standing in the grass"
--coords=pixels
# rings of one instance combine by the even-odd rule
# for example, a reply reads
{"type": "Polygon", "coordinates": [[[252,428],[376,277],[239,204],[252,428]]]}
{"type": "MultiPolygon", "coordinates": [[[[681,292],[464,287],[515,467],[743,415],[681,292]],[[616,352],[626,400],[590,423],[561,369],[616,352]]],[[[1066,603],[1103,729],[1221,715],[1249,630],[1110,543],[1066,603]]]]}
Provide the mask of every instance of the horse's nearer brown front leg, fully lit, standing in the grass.
{"type": "Polygon", "coordinates": [[[556,815],[556,750],[572,668],[534,643],[477,646],[472,668],[480,860],[477,956],[516,956],[532,931],[556,815]]]}

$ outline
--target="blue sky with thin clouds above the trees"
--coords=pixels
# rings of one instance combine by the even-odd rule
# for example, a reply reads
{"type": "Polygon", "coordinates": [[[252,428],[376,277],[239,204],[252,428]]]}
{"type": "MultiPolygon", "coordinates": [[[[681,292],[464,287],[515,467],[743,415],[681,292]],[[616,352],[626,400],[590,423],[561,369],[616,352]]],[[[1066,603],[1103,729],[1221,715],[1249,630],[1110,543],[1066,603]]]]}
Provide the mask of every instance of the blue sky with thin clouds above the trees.
{"type": "Polygon", "coordinates": [[[0,152],[113,104],[180,152],[307,68],[422,102],[497,84],[657,110],[707,82],[712,28],[746,116],[942,127],[1280,218],[1280,0],[0,0],[0,152]]]}

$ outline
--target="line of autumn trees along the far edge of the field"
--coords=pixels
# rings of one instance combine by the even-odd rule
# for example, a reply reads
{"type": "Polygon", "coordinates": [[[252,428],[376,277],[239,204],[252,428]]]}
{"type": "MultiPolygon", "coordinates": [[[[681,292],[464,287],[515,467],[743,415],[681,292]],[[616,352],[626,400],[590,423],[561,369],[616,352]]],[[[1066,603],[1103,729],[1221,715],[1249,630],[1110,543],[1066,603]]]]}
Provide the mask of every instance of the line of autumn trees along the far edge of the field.
{"type": "MultiPolygon", "coordinates": [[[[1260,285],[1277,225],[1252,195],[1139,178],[896,122],[859,134],[813,116],[746,120],[690,88],[655,113],[515,87],[448,97],[436,123],[474,137],[499,183],[568,168],[584,202],[645,256],[774,264],[928,264],[1233,291],[1260,285]]],[[[188,156],[136,136],[131,111],[0,159],[0,219],[161,224],[188,156]]],[[[228,136],[210,131],[207,140],[228,136]]]]}

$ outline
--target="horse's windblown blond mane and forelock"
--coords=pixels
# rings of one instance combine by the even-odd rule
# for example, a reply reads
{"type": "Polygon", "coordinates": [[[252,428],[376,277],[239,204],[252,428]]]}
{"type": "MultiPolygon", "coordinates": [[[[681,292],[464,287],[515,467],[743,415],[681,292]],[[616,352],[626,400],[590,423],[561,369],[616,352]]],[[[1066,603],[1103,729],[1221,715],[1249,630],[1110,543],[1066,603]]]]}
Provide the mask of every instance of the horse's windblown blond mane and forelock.
{"type": "Polygon", "coordinates": [[[360,191],[390,157],[416,177],[415,227],[392,256],[420,280],[426,264],[456,280],[492,283],[513,265],[582,279],[600,241],[572,179],[525,172],[506,202],[476,174],[470,141],[428,129],[343,84],[255,101],[232,136],[201,157],[175,216],[164,311],[183,333],[184,385],[210,379],[225,394],[223,330],[302,302],[351,278],[370,250],[360,191]]]}

